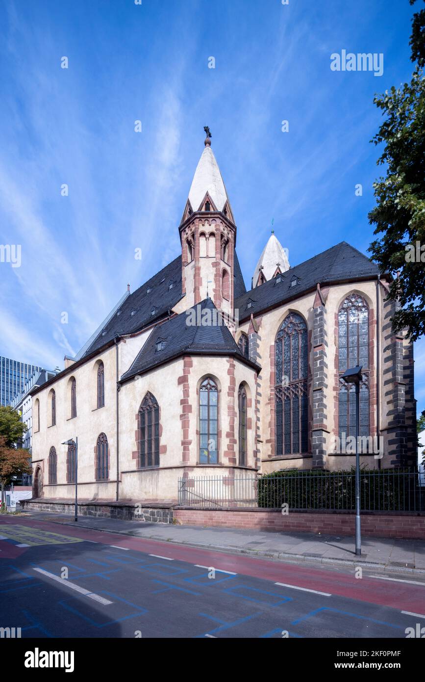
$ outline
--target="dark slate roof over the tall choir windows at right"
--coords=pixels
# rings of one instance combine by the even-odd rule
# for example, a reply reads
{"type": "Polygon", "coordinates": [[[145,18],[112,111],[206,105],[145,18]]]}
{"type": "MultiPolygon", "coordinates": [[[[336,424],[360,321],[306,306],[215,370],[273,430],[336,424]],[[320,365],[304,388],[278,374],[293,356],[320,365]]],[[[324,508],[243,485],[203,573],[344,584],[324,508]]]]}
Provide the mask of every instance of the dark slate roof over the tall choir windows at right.
{"type": "Polygon", "coordinates": [[[376,276],[379,267],[364,256],[360,251],[350,246],[346,241],[341,241],[336,246],[327,249],[308,261],[291,267],[283,275],[281,282],[277,278],[272,278],[260,286],[247,291],[236,298],[234,307],[239,311],[239,320],[243,320],[261,310],[283,303],[287,299],[298,297],[304,291],[308,291],[317,284],[334,282],[337,280],[362,279],[364,277],[376,276]],[[296,278],[297,284],[291,286],[292,280],[296,278]],[[251,301],[251,307],[248,307],[251,301]]]}

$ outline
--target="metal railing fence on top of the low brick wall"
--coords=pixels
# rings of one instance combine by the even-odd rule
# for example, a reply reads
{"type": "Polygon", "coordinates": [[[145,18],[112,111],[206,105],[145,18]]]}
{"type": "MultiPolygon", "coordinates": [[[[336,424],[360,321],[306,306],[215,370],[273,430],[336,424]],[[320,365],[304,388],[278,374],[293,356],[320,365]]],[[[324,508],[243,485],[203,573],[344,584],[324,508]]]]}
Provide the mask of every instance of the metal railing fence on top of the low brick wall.
{"type": "MultiPolygon", "coordinates": [[[[262,507],[294,511],[352,511],[356,473],[352,471],[279,471],[249,476],[195,476],[178,479],[182,507],[220,509],[262,507]]],[[[384,469],[360,473],[364,511],[425,511],[425,473],[384,469]]]]}

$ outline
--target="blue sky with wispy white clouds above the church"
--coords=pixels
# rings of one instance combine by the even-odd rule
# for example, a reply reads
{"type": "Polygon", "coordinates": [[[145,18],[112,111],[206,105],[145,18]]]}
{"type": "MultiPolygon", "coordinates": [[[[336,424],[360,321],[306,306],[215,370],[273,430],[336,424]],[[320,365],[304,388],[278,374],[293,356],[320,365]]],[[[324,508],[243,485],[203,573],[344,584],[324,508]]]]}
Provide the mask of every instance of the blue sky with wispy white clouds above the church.
{"type": "MultiPolygon", "coordinates": [[[[1,0],[0,243],[22,245],[22,265],[0,264],[0,354],[62,367],[127,282],[133,291],[178,255],[204,125],[247,286],[272,220],[292,265],[343,239],[366,252],[380,172],[373,95],[409,80],[414,9],[1,0]],[[383,53],[383,75],[332,72],[330,55],[343,49],[383,53]]],[[[415,359],[424,409],[424,339],[415,359]]]]}

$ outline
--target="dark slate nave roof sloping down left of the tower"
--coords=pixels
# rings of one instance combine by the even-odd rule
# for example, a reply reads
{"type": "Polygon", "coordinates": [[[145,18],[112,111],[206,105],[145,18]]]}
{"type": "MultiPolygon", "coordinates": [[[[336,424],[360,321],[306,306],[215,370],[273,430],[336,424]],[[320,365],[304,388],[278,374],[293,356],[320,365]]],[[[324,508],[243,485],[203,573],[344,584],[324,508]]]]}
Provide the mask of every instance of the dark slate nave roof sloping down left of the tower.
{"type": "Polygon", "coordinates": [[[133,333],[151,325],[167,314],[181,298],[181,256],[178,256],[125,298],[110,321],[86,349],[83,357],[101,348],[117,335],[133,333]],[[151,314],[152,310],[154,314],[151,314]]]}

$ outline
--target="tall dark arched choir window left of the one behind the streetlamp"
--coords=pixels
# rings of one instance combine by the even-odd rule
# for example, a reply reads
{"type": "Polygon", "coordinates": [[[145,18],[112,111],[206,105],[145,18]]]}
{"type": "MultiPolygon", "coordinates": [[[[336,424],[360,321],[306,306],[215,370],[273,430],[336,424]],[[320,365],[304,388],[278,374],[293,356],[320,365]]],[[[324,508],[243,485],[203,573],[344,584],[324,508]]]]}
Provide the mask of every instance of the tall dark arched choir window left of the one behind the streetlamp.
{"type": "Polygon", "coordinates": [[[283,321],[274,345],[276,364],[276,454],[306,453],[309,447],[307,325],[292,312],[283,321]]]}

